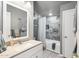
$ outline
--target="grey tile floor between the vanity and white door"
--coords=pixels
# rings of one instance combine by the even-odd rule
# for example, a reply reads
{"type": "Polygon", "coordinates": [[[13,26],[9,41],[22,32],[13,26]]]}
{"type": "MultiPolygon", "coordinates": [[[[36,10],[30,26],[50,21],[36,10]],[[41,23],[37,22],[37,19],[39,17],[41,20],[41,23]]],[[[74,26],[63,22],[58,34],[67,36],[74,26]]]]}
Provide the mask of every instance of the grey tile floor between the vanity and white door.
{"type": "Polygon", "coordinates": [[[44,50],[43,58],[63,58],[63,56],[50,50],[44,50]]]}

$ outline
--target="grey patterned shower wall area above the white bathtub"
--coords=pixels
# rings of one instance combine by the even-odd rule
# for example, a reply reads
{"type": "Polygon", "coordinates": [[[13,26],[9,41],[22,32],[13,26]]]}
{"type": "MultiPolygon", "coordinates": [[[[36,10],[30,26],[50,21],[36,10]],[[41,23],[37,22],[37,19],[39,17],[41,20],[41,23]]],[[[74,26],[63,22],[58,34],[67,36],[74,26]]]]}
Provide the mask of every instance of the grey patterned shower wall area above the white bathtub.
{"type": "Polygon", "coordinates": [[[60,41],[59,17],[52,16],[46,19],[46,38],[60,41]]]}

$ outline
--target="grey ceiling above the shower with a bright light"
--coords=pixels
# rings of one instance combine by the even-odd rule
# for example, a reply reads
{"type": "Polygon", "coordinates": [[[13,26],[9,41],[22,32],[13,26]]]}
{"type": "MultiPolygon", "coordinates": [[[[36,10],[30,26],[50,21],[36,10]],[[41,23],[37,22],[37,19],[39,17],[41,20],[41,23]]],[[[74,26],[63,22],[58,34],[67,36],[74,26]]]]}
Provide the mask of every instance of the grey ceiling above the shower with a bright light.
{"type": "Polygon", "coordinates": [[[34,10],[41,16],[47,16],[49,12],[52,12],[53,15],[59,15],[60,6],[69,2],[71,1],[35,1],[34,10]]]}

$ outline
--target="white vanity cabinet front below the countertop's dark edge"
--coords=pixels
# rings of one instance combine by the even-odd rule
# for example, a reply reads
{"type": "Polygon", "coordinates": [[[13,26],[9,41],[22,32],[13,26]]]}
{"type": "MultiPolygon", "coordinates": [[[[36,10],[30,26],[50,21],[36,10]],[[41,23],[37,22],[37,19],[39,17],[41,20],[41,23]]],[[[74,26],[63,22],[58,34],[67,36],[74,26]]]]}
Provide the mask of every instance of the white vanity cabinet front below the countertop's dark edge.
{"type": "Polygon", "coordinates": [[[14,56],[14,58],[42,58],[43,57],[43,45],[39,44],[22,53],[14,56]]]}

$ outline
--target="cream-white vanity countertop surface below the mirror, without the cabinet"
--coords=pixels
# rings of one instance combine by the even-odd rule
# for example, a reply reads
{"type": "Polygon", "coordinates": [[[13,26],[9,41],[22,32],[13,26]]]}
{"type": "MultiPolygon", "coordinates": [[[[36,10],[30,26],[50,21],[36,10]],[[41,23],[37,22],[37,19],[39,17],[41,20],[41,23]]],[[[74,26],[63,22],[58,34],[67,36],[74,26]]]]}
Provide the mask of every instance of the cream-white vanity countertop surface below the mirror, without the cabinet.
{"type": "Polygon", "coordinates": [[[0,58],[10,58],[38,44],[41,44],[41,42],[35,41],[35,40],[29,40],[29,41],[23,42],[22,44],[15,44],[14,46],[8,46],[7,50],[0,54],[0,58]]]}

